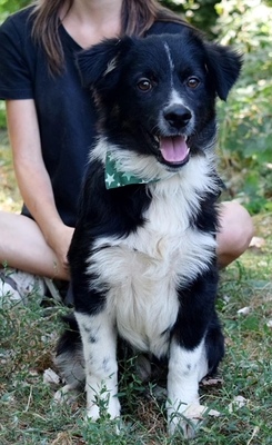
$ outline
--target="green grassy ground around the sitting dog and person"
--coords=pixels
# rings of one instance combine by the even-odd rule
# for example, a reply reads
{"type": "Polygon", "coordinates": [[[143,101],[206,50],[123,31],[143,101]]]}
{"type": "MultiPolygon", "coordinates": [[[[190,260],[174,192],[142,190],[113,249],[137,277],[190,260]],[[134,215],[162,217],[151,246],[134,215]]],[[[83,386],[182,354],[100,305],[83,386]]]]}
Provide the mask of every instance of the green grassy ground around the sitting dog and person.
{"type": "MultiPolygon", "coordinates": [[[[6,142],[0,141],[0,208],[19,210],[6,142]]],[[[256,236],[265,244],[249,250],[221,276],[218,309],[226,355],[219,375],[223,382],[201,386],[202,403],[221,415],[206,417],[192,445],[272,444],[272,215],[259,215],[254,220],[256,236]],[[240,315],[244,307],[249,312],[240,315]],[[232,405],[230,412],[238,396],[244,397],[244,405],[232,405]]],[[[59,386],[44,383],[43,373],[53,368],[60,316],[66,312],[50,299],[41,305],[34,294],[27,306],[7,303],[0,308],[1,445],[185,444],[180,434],[168,436],[164,403],[157,399],[153,383],[139,382],[133,360],[128,363],[120,387],[121,426],[107,415],[99,423],[85,423],[84,395],[70,405],[52,402],[59,386]]]]}

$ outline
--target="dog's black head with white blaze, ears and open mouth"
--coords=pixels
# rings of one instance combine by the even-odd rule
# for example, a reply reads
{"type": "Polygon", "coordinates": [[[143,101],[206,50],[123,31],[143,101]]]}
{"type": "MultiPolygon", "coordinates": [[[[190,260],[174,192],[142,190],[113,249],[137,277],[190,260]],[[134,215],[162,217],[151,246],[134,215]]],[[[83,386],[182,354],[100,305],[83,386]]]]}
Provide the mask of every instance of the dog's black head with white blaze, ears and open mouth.
{"type": "Polygon", "coordinates": [[[177,170],[213,145],[215,98],[226,99],[242,61],[184,27],[180,34],[104,40],[82,51],[78,66],[100,131],[177,170]]]}

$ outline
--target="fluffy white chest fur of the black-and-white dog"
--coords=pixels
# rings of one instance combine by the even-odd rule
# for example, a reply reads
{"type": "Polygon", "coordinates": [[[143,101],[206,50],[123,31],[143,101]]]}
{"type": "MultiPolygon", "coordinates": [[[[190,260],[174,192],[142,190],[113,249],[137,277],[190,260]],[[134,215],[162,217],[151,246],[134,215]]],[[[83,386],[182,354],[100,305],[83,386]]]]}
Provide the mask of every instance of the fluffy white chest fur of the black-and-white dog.
{"type": "Polygon", "coordinates": [[[89,271],[100,290],[105,286],[107,312],[120,335],[157,356],[168,353],[180,307],[177,288],[203,269],[214,248],[211,236],[190,227],[189,215],[182,194],[157,196],[143,227],[127,238],[99,239],[90,258],[89,271]]]}

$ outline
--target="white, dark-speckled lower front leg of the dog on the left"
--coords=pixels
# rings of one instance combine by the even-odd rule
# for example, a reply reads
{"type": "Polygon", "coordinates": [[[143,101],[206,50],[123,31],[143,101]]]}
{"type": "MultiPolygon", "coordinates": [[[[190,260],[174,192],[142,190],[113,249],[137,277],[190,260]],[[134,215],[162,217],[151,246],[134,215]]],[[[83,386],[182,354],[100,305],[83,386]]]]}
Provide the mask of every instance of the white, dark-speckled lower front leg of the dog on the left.
{"type": "Polygon", "coordinates": [[[85,365],[87,416],[97,421],[102,414],[120,416],[118,394],[117,333],[104,312],[75,313],[85,365]]]}

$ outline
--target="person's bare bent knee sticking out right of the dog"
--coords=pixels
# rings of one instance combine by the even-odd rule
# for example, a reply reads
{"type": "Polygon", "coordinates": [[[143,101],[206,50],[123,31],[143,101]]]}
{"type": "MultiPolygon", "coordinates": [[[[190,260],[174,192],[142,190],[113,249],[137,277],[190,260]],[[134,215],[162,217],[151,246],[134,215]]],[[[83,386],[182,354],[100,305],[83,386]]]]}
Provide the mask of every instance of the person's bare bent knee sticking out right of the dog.
{"type": "Polygon", "coordinates": [[[220,205],[218,257],[220,267],[226,267],[249,247],[254,227],[248,210],[236,201],[220,205]]]}

